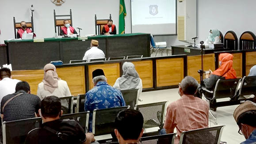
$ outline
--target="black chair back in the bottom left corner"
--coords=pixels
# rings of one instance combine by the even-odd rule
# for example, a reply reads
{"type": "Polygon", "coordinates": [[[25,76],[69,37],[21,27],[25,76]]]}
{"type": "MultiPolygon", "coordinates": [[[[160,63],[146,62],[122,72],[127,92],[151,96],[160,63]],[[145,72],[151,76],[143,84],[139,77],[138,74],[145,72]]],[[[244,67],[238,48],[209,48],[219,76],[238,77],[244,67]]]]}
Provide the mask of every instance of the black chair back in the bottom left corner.
{"type": "Polygon", "coordinates": [[[3,144],[24,144],[27,134],[42,124],[41,117],[3,122],[3,144]]]}

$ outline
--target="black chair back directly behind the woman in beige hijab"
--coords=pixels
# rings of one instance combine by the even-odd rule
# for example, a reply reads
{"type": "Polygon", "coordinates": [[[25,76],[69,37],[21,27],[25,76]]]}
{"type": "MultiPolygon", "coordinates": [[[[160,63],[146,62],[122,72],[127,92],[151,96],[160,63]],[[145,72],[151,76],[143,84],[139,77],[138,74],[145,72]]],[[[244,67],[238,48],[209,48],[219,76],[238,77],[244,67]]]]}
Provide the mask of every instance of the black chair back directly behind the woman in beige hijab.
{"type": "Polygon", "coordinates": [[[61,110],[63,114],[72,114],[73,113],[73,96],[62,97],[61,99],[61,110]]]}

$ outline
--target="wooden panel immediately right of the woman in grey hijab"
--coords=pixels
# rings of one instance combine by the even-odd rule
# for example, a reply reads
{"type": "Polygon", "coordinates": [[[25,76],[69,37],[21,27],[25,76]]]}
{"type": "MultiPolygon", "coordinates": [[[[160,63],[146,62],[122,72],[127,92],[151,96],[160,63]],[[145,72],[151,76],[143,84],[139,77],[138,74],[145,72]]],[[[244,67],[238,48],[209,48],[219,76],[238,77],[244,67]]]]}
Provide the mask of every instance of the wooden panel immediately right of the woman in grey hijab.
{"type": "Polygon", "coordinates": [[[133,61],[135,69],[142,80],[143,88],[153,87],[153,61],[133,61]]]}

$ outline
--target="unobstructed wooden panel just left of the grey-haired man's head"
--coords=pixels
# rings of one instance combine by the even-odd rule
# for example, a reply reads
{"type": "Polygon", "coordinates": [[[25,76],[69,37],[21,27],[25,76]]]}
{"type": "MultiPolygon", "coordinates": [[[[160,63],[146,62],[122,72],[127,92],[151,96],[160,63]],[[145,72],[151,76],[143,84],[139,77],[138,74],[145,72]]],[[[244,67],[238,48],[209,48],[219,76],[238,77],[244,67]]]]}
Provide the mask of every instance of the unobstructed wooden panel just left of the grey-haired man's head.
{"type": "Polygon", "coordinates": [[[183,58],[156,60],[157,87],[178,85],[184,78],[183,58]]]}

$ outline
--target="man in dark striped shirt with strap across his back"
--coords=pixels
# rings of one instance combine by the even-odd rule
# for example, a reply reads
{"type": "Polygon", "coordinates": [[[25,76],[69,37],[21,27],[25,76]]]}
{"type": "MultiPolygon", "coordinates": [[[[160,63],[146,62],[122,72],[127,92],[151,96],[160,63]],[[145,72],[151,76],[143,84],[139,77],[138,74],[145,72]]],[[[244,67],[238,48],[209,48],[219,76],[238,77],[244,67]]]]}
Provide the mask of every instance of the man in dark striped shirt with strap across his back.
{"type": "Polygon", "coordinates": [[[16,121],[33,118],[38,115],[41,100],[37,95],[30,94],[27,82],[17,83],[15,93],[6,95],[1,101],[1,117],[3,121],[16,121]]]}

